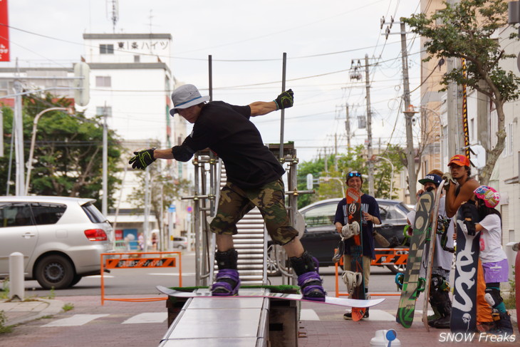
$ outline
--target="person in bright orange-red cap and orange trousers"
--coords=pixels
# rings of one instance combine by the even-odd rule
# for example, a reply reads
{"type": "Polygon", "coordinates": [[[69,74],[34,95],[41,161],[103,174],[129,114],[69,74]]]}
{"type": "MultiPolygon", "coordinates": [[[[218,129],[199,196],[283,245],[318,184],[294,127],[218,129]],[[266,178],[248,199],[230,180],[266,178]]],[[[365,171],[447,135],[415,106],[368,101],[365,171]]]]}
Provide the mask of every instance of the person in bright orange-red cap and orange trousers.
{"type": "MultiPolygon", "coordinates": [[[[446,215],[454,217],[461,204],[464,202],[474,203],[474,190],[479,187],[479,182],[471,177],[472,169],[469,158],[462,154],[454,155],[448,163],[449,172],[445,172],[442,179],[444,190],[446,190],[446,215]]],[[[454,232],[454,237],[457,232],[454,232]]],[[[477,329],[481,332],[489,331],[494,327],[491,309],[484,299],[486,283],[482,263],[479,259],[477,264],[477,329]]]]}

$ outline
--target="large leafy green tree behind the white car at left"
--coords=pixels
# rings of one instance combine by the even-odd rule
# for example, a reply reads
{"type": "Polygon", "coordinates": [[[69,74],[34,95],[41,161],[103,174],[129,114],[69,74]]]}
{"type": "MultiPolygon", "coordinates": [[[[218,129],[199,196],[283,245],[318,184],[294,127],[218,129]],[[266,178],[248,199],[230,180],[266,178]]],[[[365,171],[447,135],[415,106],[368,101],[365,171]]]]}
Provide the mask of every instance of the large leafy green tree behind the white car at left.
{"type": "MultiPolygon", "coordinates": [[[[43,98],[23,99],[24,157],[28,159],[33,120],[42,110],[52,107],[68,107],[70,101],[51,94],[43,98]]],[[[13,112],[4,108],[4,157],[0,158],[0,187],[9,185],[14,192],[14,162],[9,173],[10,140],[13,112]],[[8,184],[9,182],[9,184],[8,184]]],[[[120,180],[114,176],[120,160],[120,144],[112,130],[108,131],[108,206],[113,205],[113,192],[120,180]]],[[[14,160],[14,153],[11,160],[14,160]]],[[[100,117],[85,118],[83,113],[68,115],[62,111],[45,113],[38,121],[38,133],[33,154],[33,169],[29,193],[90,197],[100,207],[103,186],[103,124],[100,117]]],[[[7,188],[6,188],[7,189],[7,188]]]]}

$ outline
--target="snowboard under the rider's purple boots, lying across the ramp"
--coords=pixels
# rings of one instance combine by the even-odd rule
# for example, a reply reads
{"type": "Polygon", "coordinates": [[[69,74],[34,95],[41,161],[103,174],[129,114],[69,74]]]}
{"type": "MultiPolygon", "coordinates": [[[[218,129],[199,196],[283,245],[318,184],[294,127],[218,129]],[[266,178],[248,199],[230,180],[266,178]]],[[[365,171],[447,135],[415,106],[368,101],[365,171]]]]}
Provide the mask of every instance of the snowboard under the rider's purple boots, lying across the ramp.
{"type": "Polygon", "coordinates": [[[303,299],[300,294],[286,294],[286,293],[271,293],[267,289],[239,289],[239,294],[235,296],[212,296],[212,292],[209,289],[197,289],[197,291],[177,291],[170,289],[165,286],[156,286],[158,291],[167,296],[173,296],[175,298],[205,298],[205,299],[224,299],[233,300],[236,298],[273,298],[273,299],[285,299],[295,301],[307,301],[315,302],[319,304],[329,304],[336,306],[359,306],[359,307],[372,307],[385,301],[382,299],[370,299],[370,300],[357,300],[357,299],[343,299],[336,298],[333,296],[326,296],[325,301],[316,301],[310,299],[303,299]]]}

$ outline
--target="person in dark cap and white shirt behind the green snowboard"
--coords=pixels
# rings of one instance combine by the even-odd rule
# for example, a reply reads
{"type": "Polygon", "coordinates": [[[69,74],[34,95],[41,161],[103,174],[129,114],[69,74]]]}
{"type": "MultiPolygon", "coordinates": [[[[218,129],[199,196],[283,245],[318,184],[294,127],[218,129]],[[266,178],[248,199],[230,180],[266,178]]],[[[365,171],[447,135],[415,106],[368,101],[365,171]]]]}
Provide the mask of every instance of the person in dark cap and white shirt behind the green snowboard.
{"type": "MultiPolygon", "coordinates": [[[[419,180],[419,183],[423,185],[423,189],[417,192],[417,200],[423,192],[434,191],[440,188],[442,182],[442,172],[440,170],[432,170],[426,175],[425,178],[419,180]]],[[[440,234],[437,232],[435,237],[435,254],[433,257],[432,265],[432,279],[430,282],[430,305],[434,312],[433,316],[428,316],[428,325],[435,328],[449,329],[449,320],[452,314],[452,301],[449,299],[449,272],[452,269],[453,254],[447,251],[449,247],[453,248],[453,232],[454,227],[450,219],[445,217],[446,212],[444,209],[445,205],[444,195],[440,198],[439,202],[439,222],[437,222],[437,231],[446,232],[440,234]]],[[[413,225],[415,222],[415,212],[417,212],[417,206],[407,214],[407,222],[413,225]]],[[[437,216],[433,216],[437,218],[437,216]]],[[[425,244],[425,247],[427,245],[425,244]]],[[[427,258],[424,257],[423,261],[427,258]]],[[[428,264],[423,263],[421,265],[421,276],[426,276],[426,269],[428,264]]]]}

